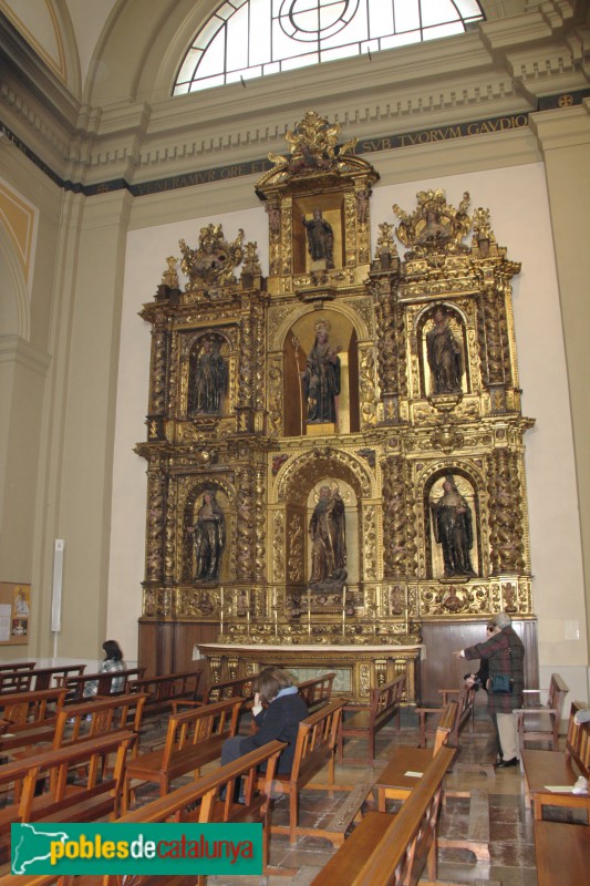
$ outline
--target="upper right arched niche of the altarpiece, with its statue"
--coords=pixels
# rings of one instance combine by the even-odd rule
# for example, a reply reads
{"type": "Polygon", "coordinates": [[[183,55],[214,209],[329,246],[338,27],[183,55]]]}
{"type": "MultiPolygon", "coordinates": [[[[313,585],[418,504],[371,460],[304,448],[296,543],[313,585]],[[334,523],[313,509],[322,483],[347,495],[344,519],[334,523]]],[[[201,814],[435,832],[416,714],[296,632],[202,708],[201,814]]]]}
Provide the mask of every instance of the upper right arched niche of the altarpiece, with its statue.
{"type": "Polygon", "coordinates": [[[420,377],[423,396],[470,390],[466,322],[454,306],[436,302],[417,319],[420,377]]]}

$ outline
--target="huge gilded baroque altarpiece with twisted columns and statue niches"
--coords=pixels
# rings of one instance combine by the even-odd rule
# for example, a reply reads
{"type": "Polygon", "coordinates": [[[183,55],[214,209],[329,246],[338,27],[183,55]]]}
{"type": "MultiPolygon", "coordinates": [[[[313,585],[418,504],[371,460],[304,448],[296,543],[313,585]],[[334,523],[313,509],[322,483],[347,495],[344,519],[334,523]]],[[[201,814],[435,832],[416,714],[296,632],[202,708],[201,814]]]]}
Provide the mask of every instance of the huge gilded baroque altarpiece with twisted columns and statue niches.
{"type": "Polygon", "coordinates": [[[144,622],[210,624],[226,643],[403,646],[427,621],[532,614],[520,266],[486,208],[468,194],[454,207],[438,189],[394,205],[371,255],[379,174],[339,133],[308,112],[290,152],[270,156],[256,188],[267,277],[247,234],[228,241],[209,224],[194,247],[180,240],[142,310],[153,329],[137,445],[148,463],[144,622]],[[331,228],[328,259],[310,251],[309,219],[331,228]],[[334,421],[307,419],[318,329],[340,360],[334,421]],[[213,396],[195,381],[205,363],[213,396]],[[343,502],[346,568],[318,587],[310,523],[322,487],[343,502]],[[441,540],[445,495],[469,517],[458,562],[441,540]],[[214,566],[195,550],[206,502],[224,524],[214,566]]]}

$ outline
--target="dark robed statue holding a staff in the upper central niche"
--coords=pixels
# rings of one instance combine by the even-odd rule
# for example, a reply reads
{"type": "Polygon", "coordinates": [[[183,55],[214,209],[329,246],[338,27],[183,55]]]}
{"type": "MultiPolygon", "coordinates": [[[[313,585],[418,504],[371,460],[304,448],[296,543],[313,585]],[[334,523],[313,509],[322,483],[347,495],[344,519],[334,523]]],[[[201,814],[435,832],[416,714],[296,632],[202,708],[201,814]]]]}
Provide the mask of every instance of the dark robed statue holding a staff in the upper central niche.
{"type": "Polygon", "coordinates": [[[330,323],[318,320],[315,341],[308,354],[306,371],[301,373],[303,393],[308,404],[308,422],[335,423],[335,398],[340,393],[340,348],[329,343],[330,323]]]}

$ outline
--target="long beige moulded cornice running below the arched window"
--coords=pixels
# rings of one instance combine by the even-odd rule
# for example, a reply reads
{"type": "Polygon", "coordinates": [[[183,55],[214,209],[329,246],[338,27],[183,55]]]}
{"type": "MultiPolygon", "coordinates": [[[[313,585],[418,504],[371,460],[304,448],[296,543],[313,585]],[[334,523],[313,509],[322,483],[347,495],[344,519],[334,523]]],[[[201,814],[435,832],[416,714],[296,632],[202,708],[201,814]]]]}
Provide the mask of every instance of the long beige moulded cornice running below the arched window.
{"type": "Polygon", "coordinates": [[[41,62],[23,81],[2,82],[0,95],[7,125],[69,187],[133,186],[282,153],[286,131],[310,109],[339,122],[346,138],[536,112],[539,96],[589,86],[588,29],[577,10],[572,2],[544,3],[427,47],[154,103],[93,107],[72,100],[65,113],[55,84],[45,104],[37,99],[49,80],[41,62]]]}

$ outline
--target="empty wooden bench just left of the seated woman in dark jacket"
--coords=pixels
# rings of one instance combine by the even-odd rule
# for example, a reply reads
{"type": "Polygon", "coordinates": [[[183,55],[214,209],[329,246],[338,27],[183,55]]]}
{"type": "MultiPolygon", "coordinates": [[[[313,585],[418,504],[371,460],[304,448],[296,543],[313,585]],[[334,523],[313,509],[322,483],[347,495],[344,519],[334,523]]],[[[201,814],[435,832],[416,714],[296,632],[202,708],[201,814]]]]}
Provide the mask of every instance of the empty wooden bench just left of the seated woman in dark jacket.
{"type": "Polygon", "coordinates": [[[132,780],[155,782],[161,796],[168,793],[170,782],[221,756],[224,741],[235,735],[242,699],[200,705],[172,714],[164,748],[130,760],[125,775],[125,812],[132,780]]]}

